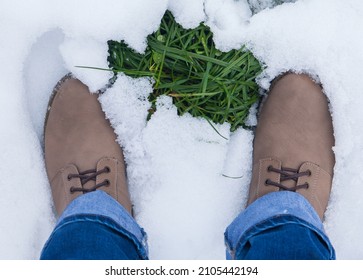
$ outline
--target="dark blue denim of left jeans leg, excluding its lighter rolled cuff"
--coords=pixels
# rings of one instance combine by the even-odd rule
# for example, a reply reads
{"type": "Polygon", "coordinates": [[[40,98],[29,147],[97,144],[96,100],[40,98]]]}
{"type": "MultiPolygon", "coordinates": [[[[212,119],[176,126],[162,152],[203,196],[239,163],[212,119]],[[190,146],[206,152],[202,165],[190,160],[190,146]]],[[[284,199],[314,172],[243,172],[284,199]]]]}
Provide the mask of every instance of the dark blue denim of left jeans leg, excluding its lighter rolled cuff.
{"type": "Polygon", "coordinates": [[[75,217],[55,230],[44,248],[42,260],[137,260],[135,244],[114,230],[112,221],[95,222],[75,217]],[[77,218],[79,220],[77,220],[77,218]],[[107,223],[108,222],[108,223],[107,223]]]}

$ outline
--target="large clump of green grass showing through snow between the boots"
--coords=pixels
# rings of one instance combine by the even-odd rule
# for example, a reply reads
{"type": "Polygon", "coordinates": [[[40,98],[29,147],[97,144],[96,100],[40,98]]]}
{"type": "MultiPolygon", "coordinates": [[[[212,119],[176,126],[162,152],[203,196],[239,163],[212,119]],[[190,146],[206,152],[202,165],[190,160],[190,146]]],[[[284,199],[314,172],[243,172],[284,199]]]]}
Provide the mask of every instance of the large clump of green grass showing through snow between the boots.
{"type": "Polygon", "coordinates": [[[244,126],[259,98],[255,78],[261,65],[251,52],[245,48],[221,52],[209,27],[184,29],[169,11],[159,29],[148,36],[147,45],[145,53],[139,54],[124,42],[109,41],[108,62],[114,72],[155,80],[150,114],[157,97],[168,95],[181,115],[229,122],[231,131],[244,126]]]}

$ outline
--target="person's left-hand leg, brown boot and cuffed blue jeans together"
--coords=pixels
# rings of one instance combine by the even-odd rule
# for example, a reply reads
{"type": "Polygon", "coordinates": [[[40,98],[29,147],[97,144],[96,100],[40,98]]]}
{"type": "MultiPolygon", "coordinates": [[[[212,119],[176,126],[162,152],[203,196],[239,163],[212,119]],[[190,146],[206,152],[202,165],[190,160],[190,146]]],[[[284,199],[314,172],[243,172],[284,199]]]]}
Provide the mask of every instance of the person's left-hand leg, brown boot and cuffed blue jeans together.
{"type": "Polygon", "coordinates": [[[123,151],[97,100],[70,75],[55,87],[44,129],[45,163],[61,217],[41,259],[147,259],[132,217],[123,151]]]}

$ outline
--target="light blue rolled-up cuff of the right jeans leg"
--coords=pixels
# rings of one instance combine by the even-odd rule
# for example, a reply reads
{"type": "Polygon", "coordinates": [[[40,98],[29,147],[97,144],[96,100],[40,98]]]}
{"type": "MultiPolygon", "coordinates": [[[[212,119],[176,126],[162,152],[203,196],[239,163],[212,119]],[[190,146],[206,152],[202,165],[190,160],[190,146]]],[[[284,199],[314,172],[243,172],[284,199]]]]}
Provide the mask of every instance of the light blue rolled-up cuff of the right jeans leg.
{"type": "Polygon", "coordinates": [[[311,204],[298,193],[281,191],[269,193],[257,199],[226,229],[227,259],[234,259],[236,251],[253,235],[268,228],[287,223],[297,223],[316,232],[325,241],[331,258],[335,258],[333,246],[311,204]],[[279,217],[285,218],[272,225],[271,221],[279,217]]]}

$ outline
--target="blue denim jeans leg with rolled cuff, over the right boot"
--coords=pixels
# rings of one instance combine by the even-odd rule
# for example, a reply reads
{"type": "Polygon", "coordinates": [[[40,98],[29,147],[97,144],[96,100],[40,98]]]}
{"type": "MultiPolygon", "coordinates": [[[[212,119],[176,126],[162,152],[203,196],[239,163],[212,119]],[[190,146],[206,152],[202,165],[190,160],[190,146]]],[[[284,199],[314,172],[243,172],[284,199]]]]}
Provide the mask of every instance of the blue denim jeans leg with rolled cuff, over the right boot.
{"type": "Polygon", "coordinates": [[[335,259],[311,204],[280,191],[249,205],[225,232],[227,259],[335,259]]]}

